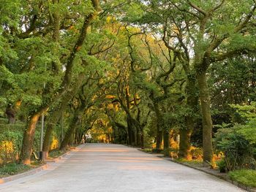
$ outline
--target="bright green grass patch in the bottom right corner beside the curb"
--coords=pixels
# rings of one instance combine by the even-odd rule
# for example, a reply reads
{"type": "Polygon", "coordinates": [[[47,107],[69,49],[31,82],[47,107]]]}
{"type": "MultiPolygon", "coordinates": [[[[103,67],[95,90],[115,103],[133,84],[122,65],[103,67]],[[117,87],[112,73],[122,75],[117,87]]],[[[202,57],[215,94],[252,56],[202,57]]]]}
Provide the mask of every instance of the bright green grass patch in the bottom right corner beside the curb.
{"type": "Polygon", "coordinates": [[[231,180],[241,183],[243,185],[256,188],[256,170],[241,169],[229,172],[228,176],[231,180]]]}

